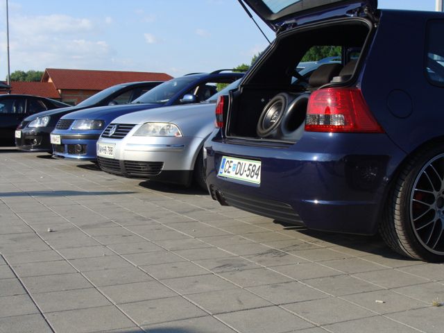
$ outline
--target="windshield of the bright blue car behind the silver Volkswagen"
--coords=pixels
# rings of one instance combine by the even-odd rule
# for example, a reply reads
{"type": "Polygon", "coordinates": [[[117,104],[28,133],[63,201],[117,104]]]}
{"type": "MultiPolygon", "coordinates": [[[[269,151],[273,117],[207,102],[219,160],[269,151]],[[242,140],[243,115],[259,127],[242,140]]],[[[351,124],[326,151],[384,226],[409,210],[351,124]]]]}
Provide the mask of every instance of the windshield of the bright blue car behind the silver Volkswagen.
{"type": "Polygon", "coordinates": [[[171,97],[176,95],[178,92],[180,92],[180,90],[184,89],[188,85],[194,83],[194,81],[196,81],[196,78],[186,76],[181,78],[173,78],[173,80],[169,80],[157,85],[157,87],[149,90],[131,103],[167,103],[171,97]]]}

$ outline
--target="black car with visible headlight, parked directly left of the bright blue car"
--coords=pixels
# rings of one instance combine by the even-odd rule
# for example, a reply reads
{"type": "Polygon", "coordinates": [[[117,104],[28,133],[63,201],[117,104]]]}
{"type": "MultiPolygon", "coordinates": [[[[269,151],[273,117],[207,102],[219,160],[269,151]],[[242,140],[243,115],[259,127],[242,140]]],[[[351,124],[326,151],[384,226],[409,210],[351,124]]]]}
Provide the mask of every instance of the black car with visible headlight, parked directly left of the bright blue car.
{"type": "MultiPolygon", "coordinates": [[[[49,133],[56,128],[58,120],[70,112],[94,108],[95,106],[119,105],[130,103],[162,81],[143,81],[121,83],[94,94],[76,106],[32,114],[19,124],[15,131],[15,146],[21,151],[52,152],[49,133]]],[[[23,118],[22,118],[23,119],[23,118]]]]}

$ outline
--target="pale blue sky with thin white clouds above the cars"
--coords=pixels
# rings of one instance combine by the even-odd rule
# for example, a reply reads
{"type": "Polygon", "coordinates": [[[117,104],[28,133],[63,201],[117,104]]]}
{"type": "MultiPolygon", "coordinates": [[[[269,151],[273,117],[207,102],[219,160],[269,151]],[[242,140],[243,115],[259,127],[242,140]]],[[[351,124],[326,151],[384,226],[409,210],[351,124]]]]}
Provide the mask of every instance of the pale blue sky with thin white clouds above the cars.
{"type": "MultiPolygon", "coordinates": [[[[379,0],[378,6],[434,10],[435,3],[379,0]]],[[[249,64],[268,44],[237,0],[9,0],[8,7],[11,73],[64,68],[177,77],[249,64]]],[[[6,0],[0,0],[0,80],[8,72],[6,40],[6,0]]]]}

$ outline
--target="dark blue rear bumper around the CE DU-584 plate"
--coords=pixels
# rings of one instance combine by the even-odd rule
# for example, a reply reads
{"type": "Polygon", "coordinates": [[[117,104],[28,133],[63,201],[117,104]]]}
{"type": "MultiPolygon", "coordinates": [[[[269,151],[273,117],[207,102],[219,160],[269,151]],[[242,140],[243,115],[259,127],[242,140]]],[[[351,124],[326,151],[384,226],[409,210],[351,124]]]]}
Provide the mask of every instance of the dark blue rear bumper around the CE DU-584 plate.
{"type": "Polygon", "coordinates": [[[296,144],[205,143],[207,185],[222,204],[309,229],[375,234],[405,153],[384,134],[305,133],[296,144]],[[218,176],[224,156],[261,162],[259,185],[218,176]]]}

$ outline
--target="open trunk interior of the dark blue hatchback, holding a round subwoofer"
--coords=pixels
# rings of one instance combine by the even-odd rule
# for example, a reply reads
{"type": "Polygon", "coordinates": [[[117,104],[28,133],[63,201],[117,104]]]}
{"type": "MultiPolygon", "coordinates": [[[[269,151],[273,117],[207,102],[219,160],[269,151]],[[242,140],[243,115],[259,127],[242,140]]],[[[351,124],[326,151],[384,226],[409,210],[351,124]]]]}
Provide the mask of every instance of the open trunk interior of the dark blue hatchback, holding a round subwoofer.
{"type": "Polygon", "coordinates": [[[355,82],[371,31],[368,20],[348,18],[278,35],[230,94],[226,136],[297,142],[310,93],[355,82]]]}

